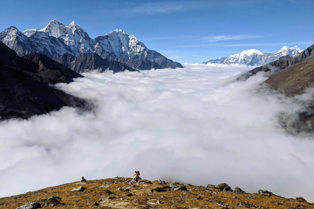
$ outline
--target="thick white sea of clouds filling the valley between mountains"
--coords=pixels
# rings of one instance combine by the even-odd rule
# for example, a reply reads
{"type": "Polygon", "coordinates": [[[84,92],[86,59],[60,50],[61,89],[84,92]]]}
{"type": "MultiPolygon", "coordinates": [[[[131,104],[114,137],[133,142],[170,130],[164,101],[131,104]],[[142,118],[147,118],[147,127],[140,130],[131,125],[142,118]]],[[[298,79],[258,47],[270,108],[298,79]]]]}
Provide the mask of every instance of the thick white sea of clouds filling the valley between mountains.
{"type": "Polygon", "coordinates": [[[57,87],[92,101],[93,111],[63,107],[1,122],[0,197],[139,170],[149,180],[225,182],[314,201],[313,135],[279,123],[312,95],[270,91],[263,73],[237,81],[248,66],[184,65],[84,73],[57,87]]]}

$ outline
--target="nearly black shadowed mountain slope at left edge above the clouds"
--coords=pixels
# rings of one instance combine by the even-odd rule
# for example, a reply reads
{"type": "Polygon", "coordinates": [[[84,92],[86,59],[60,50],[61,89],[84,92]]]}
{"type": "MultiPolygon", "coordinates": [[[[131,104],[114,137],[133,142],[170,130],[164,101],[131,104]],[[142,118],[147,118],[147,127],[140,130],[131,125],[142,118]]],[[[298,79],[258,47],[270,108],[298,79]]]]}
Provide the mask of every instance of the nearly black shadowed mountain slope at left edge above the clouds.
{"type": "Polygon", "coordinates": [[[58,70],[57,65],[60,64],[46,60],[45,55],[34,53],[28,57],[37,60],[39,65],[19,57],[0,42],[0,120],[29,118],[63,106],[86,107],[83,99],[49,85],[71,82],[70,76],[83,76],[65,66],[58,70]]]}

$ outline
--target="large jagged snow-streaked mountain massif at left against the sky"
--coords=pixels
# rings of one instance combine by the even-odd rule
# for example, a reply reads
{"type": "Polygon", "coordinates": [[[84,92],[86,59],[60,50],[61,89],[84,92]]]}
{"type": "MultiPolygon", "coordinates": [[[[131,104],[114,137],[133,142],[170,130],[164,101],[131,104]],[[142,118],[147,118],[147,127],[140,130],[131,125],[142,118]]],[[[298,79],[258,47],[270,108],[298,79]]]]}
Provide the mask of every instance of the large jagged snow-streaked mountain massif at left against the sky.
{"type": "Polygon", "coordinates": [[[24,32],[11,26],[0,33],[0,40],[20,56],[32,52],[40,52],[50,58],[63,54],[80,56],[96,53],[103,59],[119,61],[133,69],[183,67],[180,63],[147,49],[134,35],[128,35],[122,30],[114,30],[92,39],[74,22],[66,26],[53,20],[44,29],[24,32]]]}

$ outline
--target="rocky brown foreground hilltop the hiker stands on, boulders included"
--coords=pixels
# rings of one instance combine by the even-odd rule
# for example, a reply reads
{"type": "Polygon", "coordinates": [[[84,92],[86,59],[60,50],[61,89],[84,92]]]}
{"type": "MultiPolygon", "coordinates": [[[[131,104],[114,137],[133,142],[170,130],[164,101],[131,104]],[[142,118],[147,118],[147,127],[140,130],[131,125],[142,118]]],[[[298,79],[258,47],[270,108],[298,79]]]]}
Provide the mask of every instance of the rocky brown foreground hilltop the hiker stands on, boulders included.
{"type": "Polygon", "coordinates": [[[259,190],[246,193],[239,187],[234,191],[225,183],[194,186],[164,181],[139,180],[115,177],[87,182],[72,182],[59,186],[0,198],[1,209],[35,208],[258,208],[302,209],[314,204],[302,197],[288,199],[259,190]]]}

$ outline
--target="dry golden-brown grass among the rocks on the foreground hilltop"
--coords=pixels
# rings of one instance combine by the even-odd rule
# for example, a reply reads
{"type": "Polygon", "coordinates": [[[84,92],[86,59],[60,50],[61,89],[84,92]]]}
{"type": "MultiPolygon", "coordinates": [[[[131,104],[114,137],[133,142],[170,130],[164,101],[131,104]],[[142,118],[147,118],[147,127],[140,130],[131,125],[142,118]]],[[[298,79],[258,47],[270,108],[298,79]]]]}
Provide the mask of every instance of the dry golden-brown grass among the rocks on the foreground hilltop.
{"type": "MultiPolygon", "coordinates": [[[[191,191],[165,191],[165,192],[150,192],[151,189],[169,185],[157,184],[158,181],[152,181],[153,184],[148,183],[131,183],[135,185],[129,191],[119,190],[119,187],[130,186],[131,178],[119,178],[119,179],[102,179],[102,180],[88,180],[87,184],[84,184],[86,189],[81,192],[70,191],[78,186],[72,182],[54,187],[48,187],[42,189],[40,193],[28,192],[26,194],[0,198],[1,209],[15,209],[20,205],[24,205],[28,202],[41,202],[40,199],[45,199],[50,196],[61,197],[61,203],[65,205],[55,205],[49,208],[62,208],[62,209],[74,209],[74,208],[97,208],[97,209],[112,209],[112,208],[170,208],[176,206],[179,208],[270,208],[270,209],[287,209],[289,207],[301,207],[301,208],[314,208],[313,204],[308,202],[299,202],[296,200],[287,199],[284,197],[272,195],[256,195],[256,194],[236,194],[236,192],[223,192],[215,188],[210,188],[211,191],[203,191],[205,187],[197,187],[192,185],[186,185],[187,189],[191,191]],[[116,182],[115,181],[119,181],[116,182]],[[101,185],[109,185],[108,188],[101,188],[101,185]],[[108,194],[107,190],[114,194],[108,194]],[[133,196],[130,196],[133,195],[133,196]],[[115,197],[114,199],[108,199],[109,197],[115,197]],[[162,197],[163,196],[163,197],[162,197]],[[233,199],[231,197],[237,196],[233,199]],[[251,197],[251,199],[245,198],[245,196],[251,197]],[[208,200],[193,198],[210,198],[216,200],[216,202],[210,202],[208,200]],[[160,201],[161,204],[156,203],[160,201]],[[165,202],[164,202],[165,201],[165,202]],[[244,202],[245,206],[238,206],[240,202],[244,202]],[[99,205],[93,205],[98,203],[99,205]],[[217,203],[221,203],[218,205],[217,203]],[[226,206],[227,205],[227,206],[226,206]],[[223,207],[225,206],[225,207],[223,207]]],[[[42,205],[42,207],[44,207],[42,205]]]]}

